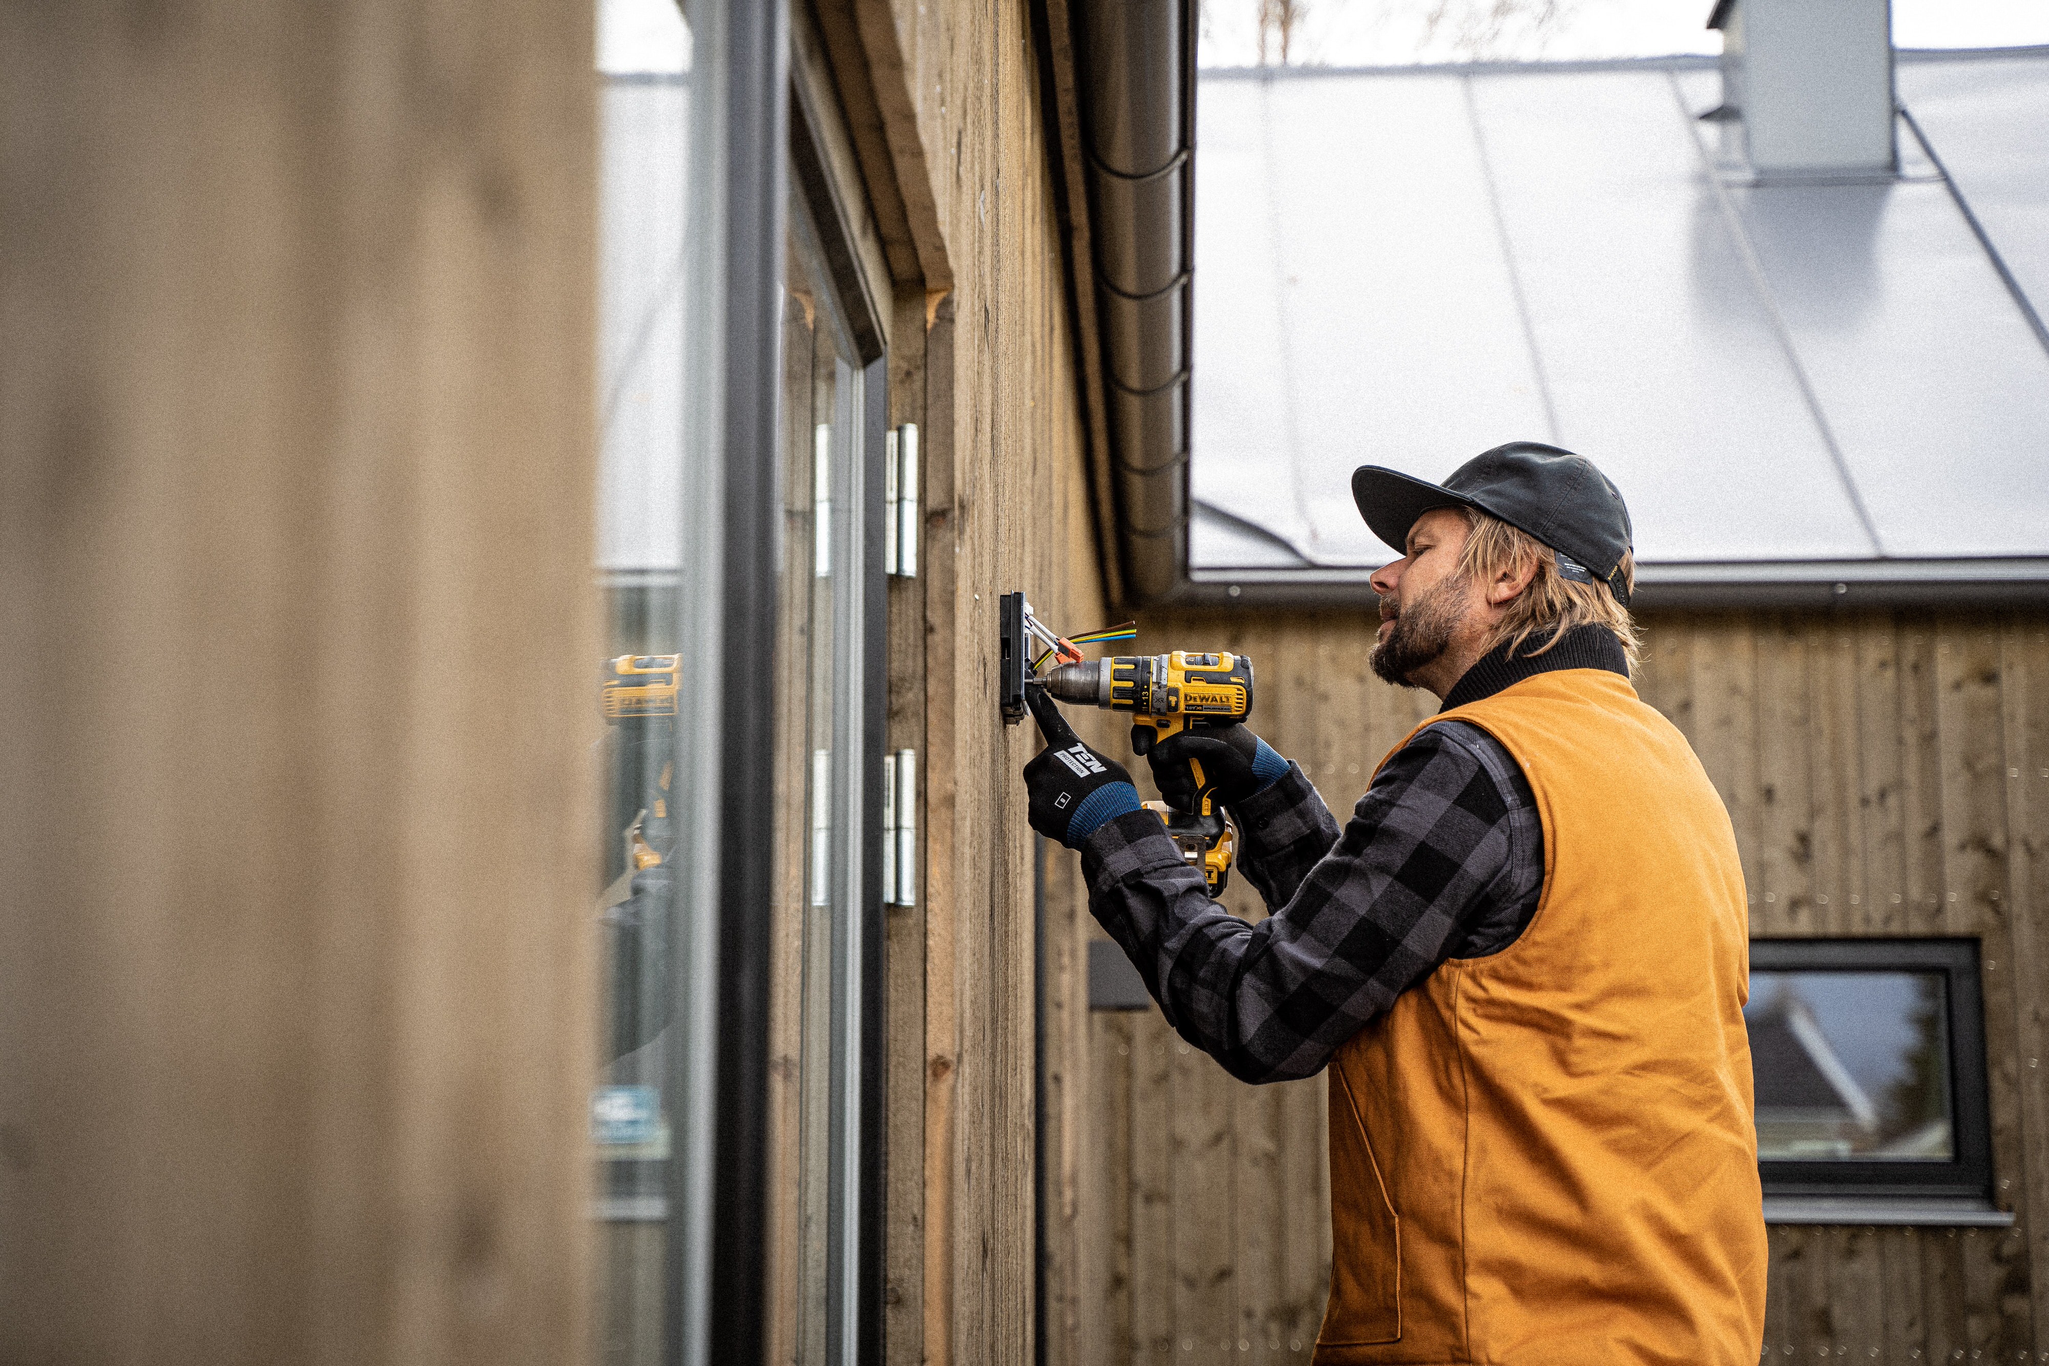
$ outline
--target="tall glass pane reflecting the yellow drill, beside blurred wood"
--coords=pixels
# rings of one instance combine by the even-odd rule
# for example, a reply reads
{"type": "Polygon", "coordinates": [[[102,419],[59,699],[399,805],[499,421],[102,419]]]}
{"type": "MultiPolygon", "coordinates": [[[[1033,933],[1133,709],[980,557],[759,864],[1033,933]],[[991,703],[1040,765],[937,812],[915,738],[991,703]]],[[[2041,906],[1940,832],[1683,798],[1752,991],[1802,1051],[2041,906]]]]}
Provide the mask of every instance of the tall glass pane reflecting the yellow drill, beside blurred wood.
{"type": "MultiPolygon", "coordinates": [[[[670,1071],[682,948],[678,670],[684,590],[684,258],[691,31],[674,0],[598,6],[598,555],[609,614],[590,707],[602,717],[598,1360],[664,1358],[670,1071]]],[[[686,696],[686,690],[682,692],[686,696]]]]}

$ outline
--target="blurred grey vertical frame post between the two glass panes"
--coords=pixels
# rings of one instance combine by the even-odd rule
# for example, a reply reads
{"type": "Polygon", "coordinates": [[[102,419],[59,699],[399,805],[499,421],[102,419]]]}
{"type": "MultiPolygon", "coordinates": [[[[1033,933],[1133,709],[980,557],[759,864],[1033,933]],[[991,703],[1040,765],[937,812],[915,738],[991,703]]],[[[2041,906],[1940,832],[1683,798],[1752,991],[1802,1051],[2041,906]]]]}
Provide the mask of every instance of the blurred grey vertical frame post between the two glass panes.
{"type": "Polygon", "coordinates": [[[688,1147],[670,1163],[664,1268],[666,1366],[760,1360],[766,1343],[768,1012],[775,944],[764,909],[777,868],[770,842],[781,485],[779,299],[783,197],[789,184],[787,0],[680,0],[691,23],[691,158],[705,193],[688,221],[688,446],[701,481],[684,487],[684,526],[707,559],[703,592],[680,594],[680,641],[715,682],[699,725],[678,727],[678,774],[699,774],[707,838],[695,860],[699,905],[717,930],[674,977],[676,1010],[699,1036],[676,1049],[670,1090],[688,1098],[688,1147]]]}

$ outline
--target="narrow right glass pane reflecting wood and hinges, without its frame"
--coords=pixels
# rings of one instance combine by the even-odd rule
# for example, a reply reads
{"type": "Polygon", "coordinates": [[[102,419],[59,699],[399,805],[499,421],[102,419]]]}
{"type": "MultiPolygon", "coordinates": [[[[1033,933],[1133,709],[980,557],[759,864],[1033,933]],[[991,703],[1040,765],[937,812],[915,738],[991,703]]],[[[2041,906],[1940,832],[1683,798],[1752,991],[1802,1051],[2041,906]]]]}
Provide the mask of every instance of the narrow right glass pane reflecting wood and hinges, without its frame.
{"type": "Polygon", "coordinates": [[[863,707],[861,371],[793,197],[783,264],[783,612],[777,762],[779,985],[770,1352],[854,1360],[861,1159],[863,707]]]}

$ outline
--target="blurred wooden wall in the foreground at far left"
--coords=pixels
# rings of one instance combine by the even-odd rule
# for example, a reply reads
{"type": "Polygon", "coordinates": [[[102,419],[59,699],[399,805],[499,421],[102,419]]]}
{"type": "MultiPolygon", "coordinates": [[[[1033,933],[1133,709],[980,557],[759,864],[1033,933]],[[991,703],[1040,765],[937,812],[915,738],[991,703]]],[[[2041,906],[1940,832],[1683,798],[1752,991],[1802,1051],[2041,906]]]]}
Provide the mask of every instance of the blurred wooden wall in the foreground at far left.
{"type": "Polygon", "coordinates": [[[584,1360],[592,6],[0,10],[0,1360],[584,1360]]]}

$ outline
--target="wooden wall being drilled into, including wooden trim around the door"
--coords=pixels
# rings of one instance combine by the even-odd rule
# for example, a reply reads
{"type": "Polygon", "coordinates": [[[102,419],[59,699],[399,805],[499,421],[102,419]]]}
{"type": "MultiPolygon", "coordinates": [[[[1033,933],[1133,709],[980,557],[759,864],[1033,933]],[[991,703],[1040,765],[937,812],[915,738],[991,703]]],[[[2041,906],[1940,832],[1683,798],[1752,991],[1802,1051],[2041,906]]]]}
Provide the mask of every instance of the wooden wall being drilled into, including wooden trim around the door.
{"type": "Polygon", "coordinates": [[[1065,631],[1104,621],[1033,8],[816,10],[897,276],[889,420],[916,422],[924,446],[920,578],[891,582],[887,627],[889,745],[924,760],[924,854],[920,903],[889,909],[885,932],[885,1360],[1022,1366],[1037,1153],[1074,1161],[1080,1098],[1065,1077],[1084,1016],[1065,981],[1080,940],[1037,936],[1018,772],[1039,733],[996,709],[996,600],[1024,590],[1065,631]]]}

